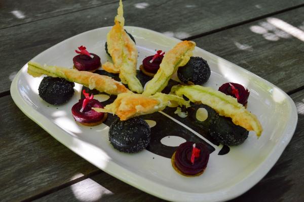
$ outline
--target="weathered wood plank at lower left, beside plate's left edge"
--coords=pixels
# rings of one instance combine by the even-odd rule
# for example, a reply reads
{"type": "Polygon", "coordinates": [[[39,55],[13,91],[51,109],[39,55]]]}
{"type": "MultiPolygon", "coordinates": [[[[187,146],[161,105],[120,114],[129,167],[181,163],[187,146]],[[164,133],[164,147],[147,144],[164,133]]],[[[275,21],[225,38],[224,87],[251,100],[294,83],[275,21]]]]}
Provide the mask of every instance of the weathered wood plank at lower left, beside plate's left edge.
{"type": "Polygon", "coordinates": [[[20,201],[98,169],[0,98],[0,198],[20,201]]]}

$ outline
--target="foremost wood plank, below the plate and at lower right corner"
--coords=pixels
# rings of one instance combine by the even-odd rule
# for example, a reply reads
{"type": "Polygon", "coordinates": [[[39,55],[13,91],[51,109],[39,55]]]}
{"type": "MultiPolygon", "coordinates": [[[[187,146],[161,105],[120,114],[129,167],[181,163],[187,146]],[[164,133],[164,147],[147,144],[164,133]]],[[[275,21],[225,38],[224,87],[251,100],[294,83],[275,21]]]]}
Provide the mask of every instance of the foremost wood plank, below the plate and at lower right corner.
{"type": "MultiPolygon", "coordinates": [[[[292,95],[298,107],[293,138],[271,171],[235,201],[303,201],[304,193],[304,90],[292,95]]],[[[137,190],[106,173],[73,184],[37,201],[163,201],[137,190]]]]}

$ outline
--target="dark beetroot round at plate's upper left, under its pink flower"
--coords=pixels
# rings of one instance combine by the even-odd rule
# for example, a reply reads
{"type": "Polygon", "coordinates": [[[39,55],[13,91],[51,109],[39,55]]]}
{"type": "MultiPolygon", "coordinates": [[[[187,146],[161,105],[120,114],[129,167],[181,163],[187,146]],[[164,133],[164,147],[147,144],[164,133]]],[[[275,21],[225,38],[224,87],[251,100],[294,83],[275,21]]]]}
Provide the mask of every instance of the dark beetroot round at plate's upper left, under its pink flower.
{"type": "Polygon", "coordinates": [[[96,54],[90,56],[79,54],[73,58],[74,67],[79,71],[93,71],[101,66],[100,58],[96,54]]]}

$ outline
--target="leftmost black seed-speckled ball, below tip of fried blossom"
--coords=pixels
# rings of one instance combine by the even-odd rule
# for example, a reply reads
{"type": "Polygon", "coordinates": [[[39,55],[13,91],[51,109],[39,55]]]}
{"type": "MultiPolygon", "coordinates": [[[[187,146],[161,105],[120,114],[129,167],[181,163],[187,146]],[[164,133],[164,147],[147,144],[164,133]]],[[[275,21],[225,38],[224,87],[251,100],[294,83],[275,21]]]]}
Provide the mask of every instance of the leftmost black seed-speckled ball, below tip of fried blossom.
{"type": "Polygon", "coordinates": [[[39,96],[51,105],[66,103],[74,94],[73,82],[62,78],[44,77],[39,85],[39,96]]]}

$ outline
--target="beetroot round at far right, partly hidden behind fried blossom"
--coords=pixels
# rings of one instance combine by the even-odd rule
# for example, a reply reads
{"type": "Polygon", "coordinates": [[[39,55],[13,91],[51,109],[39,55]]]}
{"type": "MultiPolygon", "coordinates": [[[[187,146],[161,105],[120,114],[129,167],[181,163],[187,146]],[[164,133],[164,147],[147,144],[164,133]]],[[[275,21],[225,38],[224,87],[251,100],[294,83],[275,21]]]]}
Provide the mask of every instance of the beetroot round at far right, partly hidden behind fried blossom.
{"type": "Polygon", "coordinates": [[[219,91],[225,93],[226,95],[231,95],[237,98],[238,103],[242,104],[243,106],[247,106],[247,100],[249,97],[250,92],[248,89],[245,89],[244,86],[238,83],[224,83],[219,88],[219,91]]]}

